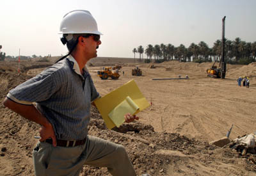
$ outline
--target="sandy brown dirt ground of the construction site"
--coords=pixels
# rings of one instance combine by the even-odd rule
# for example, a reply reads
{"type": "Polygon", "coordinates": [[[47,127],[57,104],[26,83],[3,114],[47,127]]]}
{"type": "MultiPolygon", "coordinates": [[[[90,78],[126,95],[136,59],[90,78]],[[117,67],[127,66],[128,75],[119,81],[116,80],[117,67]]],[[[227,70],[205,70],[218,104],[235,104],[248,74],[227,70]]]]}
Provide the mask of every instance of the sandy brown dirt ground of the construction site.
{"type": "MultiPolygon", "coordinates": [[[[122,58],[95,58],[90,63],[93,67],[88,63],[88,69],[101,95],[134,79],[152,103],[138,114],[140,120],[113,130],[106,129],[99,112],[92,108],[89,134],[124,145],[138,175],[256,175],[256,165],[250,159],[256,156],[241,157],[231,148],[209,145],[226,136],[232,124],[230,140],[255,132],[256,63],[227,65],[226,79],[207,77],[205,70],[212,63],[170,61],[154,63],[156,68],[122,58]],[[97,76],[97,70],[116,63],[123,66],[119,79],[97,76]],[[142,76],[131,76],[136,66],[142,76]],[[152,80],[179,76],[189,79],[152,80]],[[237,86],[239,76],[250,76],[250,88],[237,86]]],[[[17,63],[1,62],[1,101],[11,88],[40,73],[44,68],[38,67],[45,64],[21,63],[26,72],[19,74],[17,63]]],[[[31,152],[39,125],[3,104],[0,113],[0,175],[33,175],[31,152]]],[[[109,174],[106,168],[84,166],[80,175],[109,174]]]]}

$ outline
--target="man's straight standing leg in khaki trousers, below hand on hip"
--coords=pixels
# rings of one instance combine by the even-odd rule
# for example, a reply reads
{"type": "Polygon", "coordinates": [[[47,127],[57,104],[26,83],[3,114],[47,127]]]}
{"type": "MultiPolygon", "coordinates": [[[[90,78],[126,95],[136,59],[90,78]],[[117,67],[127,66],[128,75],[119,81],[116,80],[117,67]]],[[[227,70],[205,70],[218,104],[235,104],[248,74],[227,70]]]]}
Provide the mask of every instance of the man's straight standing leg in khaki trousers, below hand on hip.
{"type": "Polygon", "coordinates": [[[79,175],[84,160],[81,159],[84,145],[77,147],[53,147],[52,144],[38,142],[33,150],[36,176],[79,175]]]}

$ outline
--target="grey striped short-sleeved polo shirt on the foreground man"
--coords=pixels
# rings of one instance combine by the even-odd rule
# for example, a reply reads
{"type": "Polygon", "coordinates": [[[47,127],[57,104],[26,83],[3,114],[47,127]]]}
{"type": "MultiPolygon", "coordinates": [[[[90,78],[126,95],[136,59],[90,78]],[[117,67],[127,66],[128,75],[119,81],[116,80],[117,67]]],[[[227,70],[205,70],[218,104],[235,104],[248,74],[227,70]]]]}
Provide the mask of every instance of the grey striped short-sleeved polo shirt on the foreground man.
{"type": "Polygon", "coordinates": [[[60,140],[83,140],[88,134],[91,102],[99,97],[92,77],[69,56],[13,88],[8,99],[31,105],[44,115],[60,140]]]}

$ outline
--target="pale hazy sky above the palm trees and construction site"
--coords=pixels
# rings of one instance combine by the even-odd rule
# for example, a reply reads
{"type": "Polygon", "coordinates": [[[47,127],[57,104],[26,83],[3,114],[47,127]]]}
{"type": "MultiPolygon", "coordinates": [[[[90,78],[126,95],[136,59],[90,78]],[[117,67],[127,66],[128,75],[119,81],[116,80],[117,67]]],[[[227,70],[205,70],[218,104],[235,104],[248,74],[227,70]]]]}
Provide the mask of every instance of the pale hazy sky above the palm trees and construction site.
{"type": "MultiPolygon", "coordinates": [[[[60,23],[72,10],[88,10],[103,35],[100,57],[134,58],[132,49],[148,44],[212,47],[225,37],[256,41],[255,0],[1,0],[0,45],[6,56],[61,56],[60,23]]],[[[138,54],[137,54],[138,55],[138,54]]],[[[139,56],[136,56],[138,58],[139,56]]]]}

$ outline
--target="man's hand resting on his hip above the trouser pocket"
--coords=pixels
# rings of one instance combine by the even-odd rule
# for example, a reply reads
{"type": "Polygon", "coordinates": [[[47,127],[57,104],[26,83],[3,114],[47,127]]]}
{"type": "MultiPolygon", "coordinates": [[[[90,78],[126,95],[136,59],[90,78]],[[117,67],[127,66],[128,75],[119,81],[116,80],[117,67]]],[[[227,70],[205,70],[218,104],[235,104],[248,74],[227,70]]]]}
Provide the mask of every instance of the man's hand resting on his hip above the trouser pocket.
{"type": "Polygon", "coordinates": [[[54,147],[57,146],[54,130],[53,130],[52,125],[50,123],[49,123],[49,125],[42,126],[39,133],[40,133],[40,137],[41,137],[40,140],[39,140],[40,142],[45,141],[48,138],[51,138],[52,139],[52,145],[54,147]]]}

